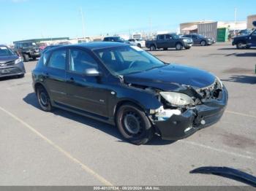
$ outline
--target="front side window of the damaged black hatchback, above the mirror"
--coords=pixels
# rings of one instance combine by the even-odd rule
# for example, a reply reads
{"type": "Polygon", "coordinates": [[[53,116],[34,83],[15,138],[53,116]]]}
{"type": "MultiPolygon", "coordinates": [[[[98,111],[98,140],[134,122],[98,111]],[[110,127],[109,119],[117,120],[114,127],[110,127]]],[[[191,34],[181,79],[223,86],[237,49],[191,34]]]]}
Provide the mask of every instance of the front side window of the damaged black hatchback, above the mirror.
{"type": "Polygon", "coordinates": [[[83,74],[86,69],[97,69],[97,62],[89,53],[83,50],[71,50],[70,51],[70,66],[69,71],[75,71],[83,74]]]}

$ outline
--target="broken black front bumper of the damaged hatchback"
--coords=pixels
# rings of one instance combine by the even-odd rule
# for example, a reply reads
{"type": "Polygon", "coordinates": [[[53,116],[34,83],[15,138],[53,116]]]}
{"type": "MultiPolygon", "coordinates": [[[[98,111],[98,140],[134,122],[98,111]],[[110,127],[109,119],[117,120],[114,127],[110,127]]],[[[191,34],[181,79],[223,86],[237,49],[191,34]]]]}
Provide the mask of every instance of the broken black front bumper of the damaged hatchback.
{"type": "Polygon", "coordinates": [[[154,121],[154,125],[159,130],[162,139],[184,139],[197,130],[218,122],[227,106],[228,93],[225,87],[223,87],[219,97],[218,100],[207,101],[202,105],[195,106],[193,109],[187,109],[183,114],[174,114],[168,120],[154,121]]]}

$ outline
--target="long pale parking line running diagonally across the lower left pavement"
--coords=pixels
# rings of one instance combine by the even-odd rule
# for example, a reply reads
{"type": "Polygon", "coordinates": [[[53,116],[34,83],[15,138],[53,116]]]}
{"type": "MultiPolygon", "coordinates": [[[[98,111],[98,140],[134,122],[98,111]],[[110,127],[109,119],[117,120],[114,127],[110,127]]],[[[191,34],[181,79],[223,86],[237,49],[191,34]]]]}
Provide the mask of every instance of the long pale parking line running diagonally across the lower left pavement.
{"type": "Polygon", "coordinates": [[[99,182],[102,182],[102,184],[105,184],[106,186],[113,186],[113,184],[111,184],[110,182],[108,182],[108,180],[106,180],[105,178],[103,178],[102,176],[100,176],[99,174],[97,174],[95,171],[93,171],[91,168],[89,168],[87,165],[83,164],[82,162],[80,162],[80,160],[76,159],[75,157],[73,157],[69,152],[65,151],[64,149],[62,149],[61,147],[59,147],[59,145],[55,144],[53,141],[51,141],[50,139],[48,139],[46,136],[43,136],[41,133],[39,133],[39,131],[35,130],[34,128],[31,127],[31,125],[27,124],[26,122],[24,122],[23,120],[21,120],[20,118],[16,117],[15,114],[12,114],[11,112],[8,112],[6,109],[2,108],[0,106],[0,110],[2,112],[4,112],[5,114],[8,114],[10,117],[12,117],[13,119],[17,120],[18,122],[20,122],[24,127],[28,128],[29,130],[31,130],[33,133],[35,133],[37,136],[39,136],[41,139],[43,139],[44,141],[46,141],[48,144],[50,144],[52,147],[54,147],[55,149],[57,149],[59,152],[61,152],[63,155],[65,155],[67,158],[69,158],[69,160],[72,160],[73,163],[76,163],[78,165],[80,165],[80,167],[86,171],[87,173],[91,174],[92,176],[94,176],[94,178],[98,179],[99,182]]]}

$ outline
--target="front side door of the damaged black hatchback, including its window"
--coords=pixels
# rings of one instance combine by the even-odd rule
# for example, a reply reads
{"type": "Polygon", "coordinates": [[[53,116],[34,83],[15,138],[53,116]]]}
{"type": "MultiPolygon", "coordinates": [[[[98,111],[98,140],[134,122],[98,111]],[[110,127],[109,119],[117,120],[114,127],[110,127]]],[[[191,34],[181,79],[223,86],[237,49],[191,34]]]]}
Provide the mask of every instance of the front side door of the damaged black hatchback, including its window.
{"type": "Polygon", "coordinates": [[[97,61],[86,50],[71,48],[69,50],[69,67],[67,71],[67,104],[90,114],[108,116],[108,96],[102,77],[88,77],[86,69],[99,69],[97,61]]]}

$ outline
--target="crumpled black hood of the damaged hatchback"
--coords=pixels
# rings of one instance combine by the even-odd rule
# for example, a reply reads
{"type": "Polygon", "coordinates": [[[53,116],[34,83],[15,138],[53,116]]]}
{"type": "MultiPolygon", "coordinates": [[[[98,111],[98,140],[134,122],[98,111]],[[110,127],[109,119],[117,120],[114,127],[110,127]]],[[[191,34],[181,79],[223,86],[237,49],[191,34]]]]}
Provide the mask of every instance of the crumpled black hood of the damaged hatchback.
{"type": "Polygon", "coordinates": [[[181,85],[189,85],[196,89],[207,87],[212,85],[215,79],[216,77],[207,71],[177,64],[124,76],[124,82],[165,91],[177,90],[181,85]]]}

